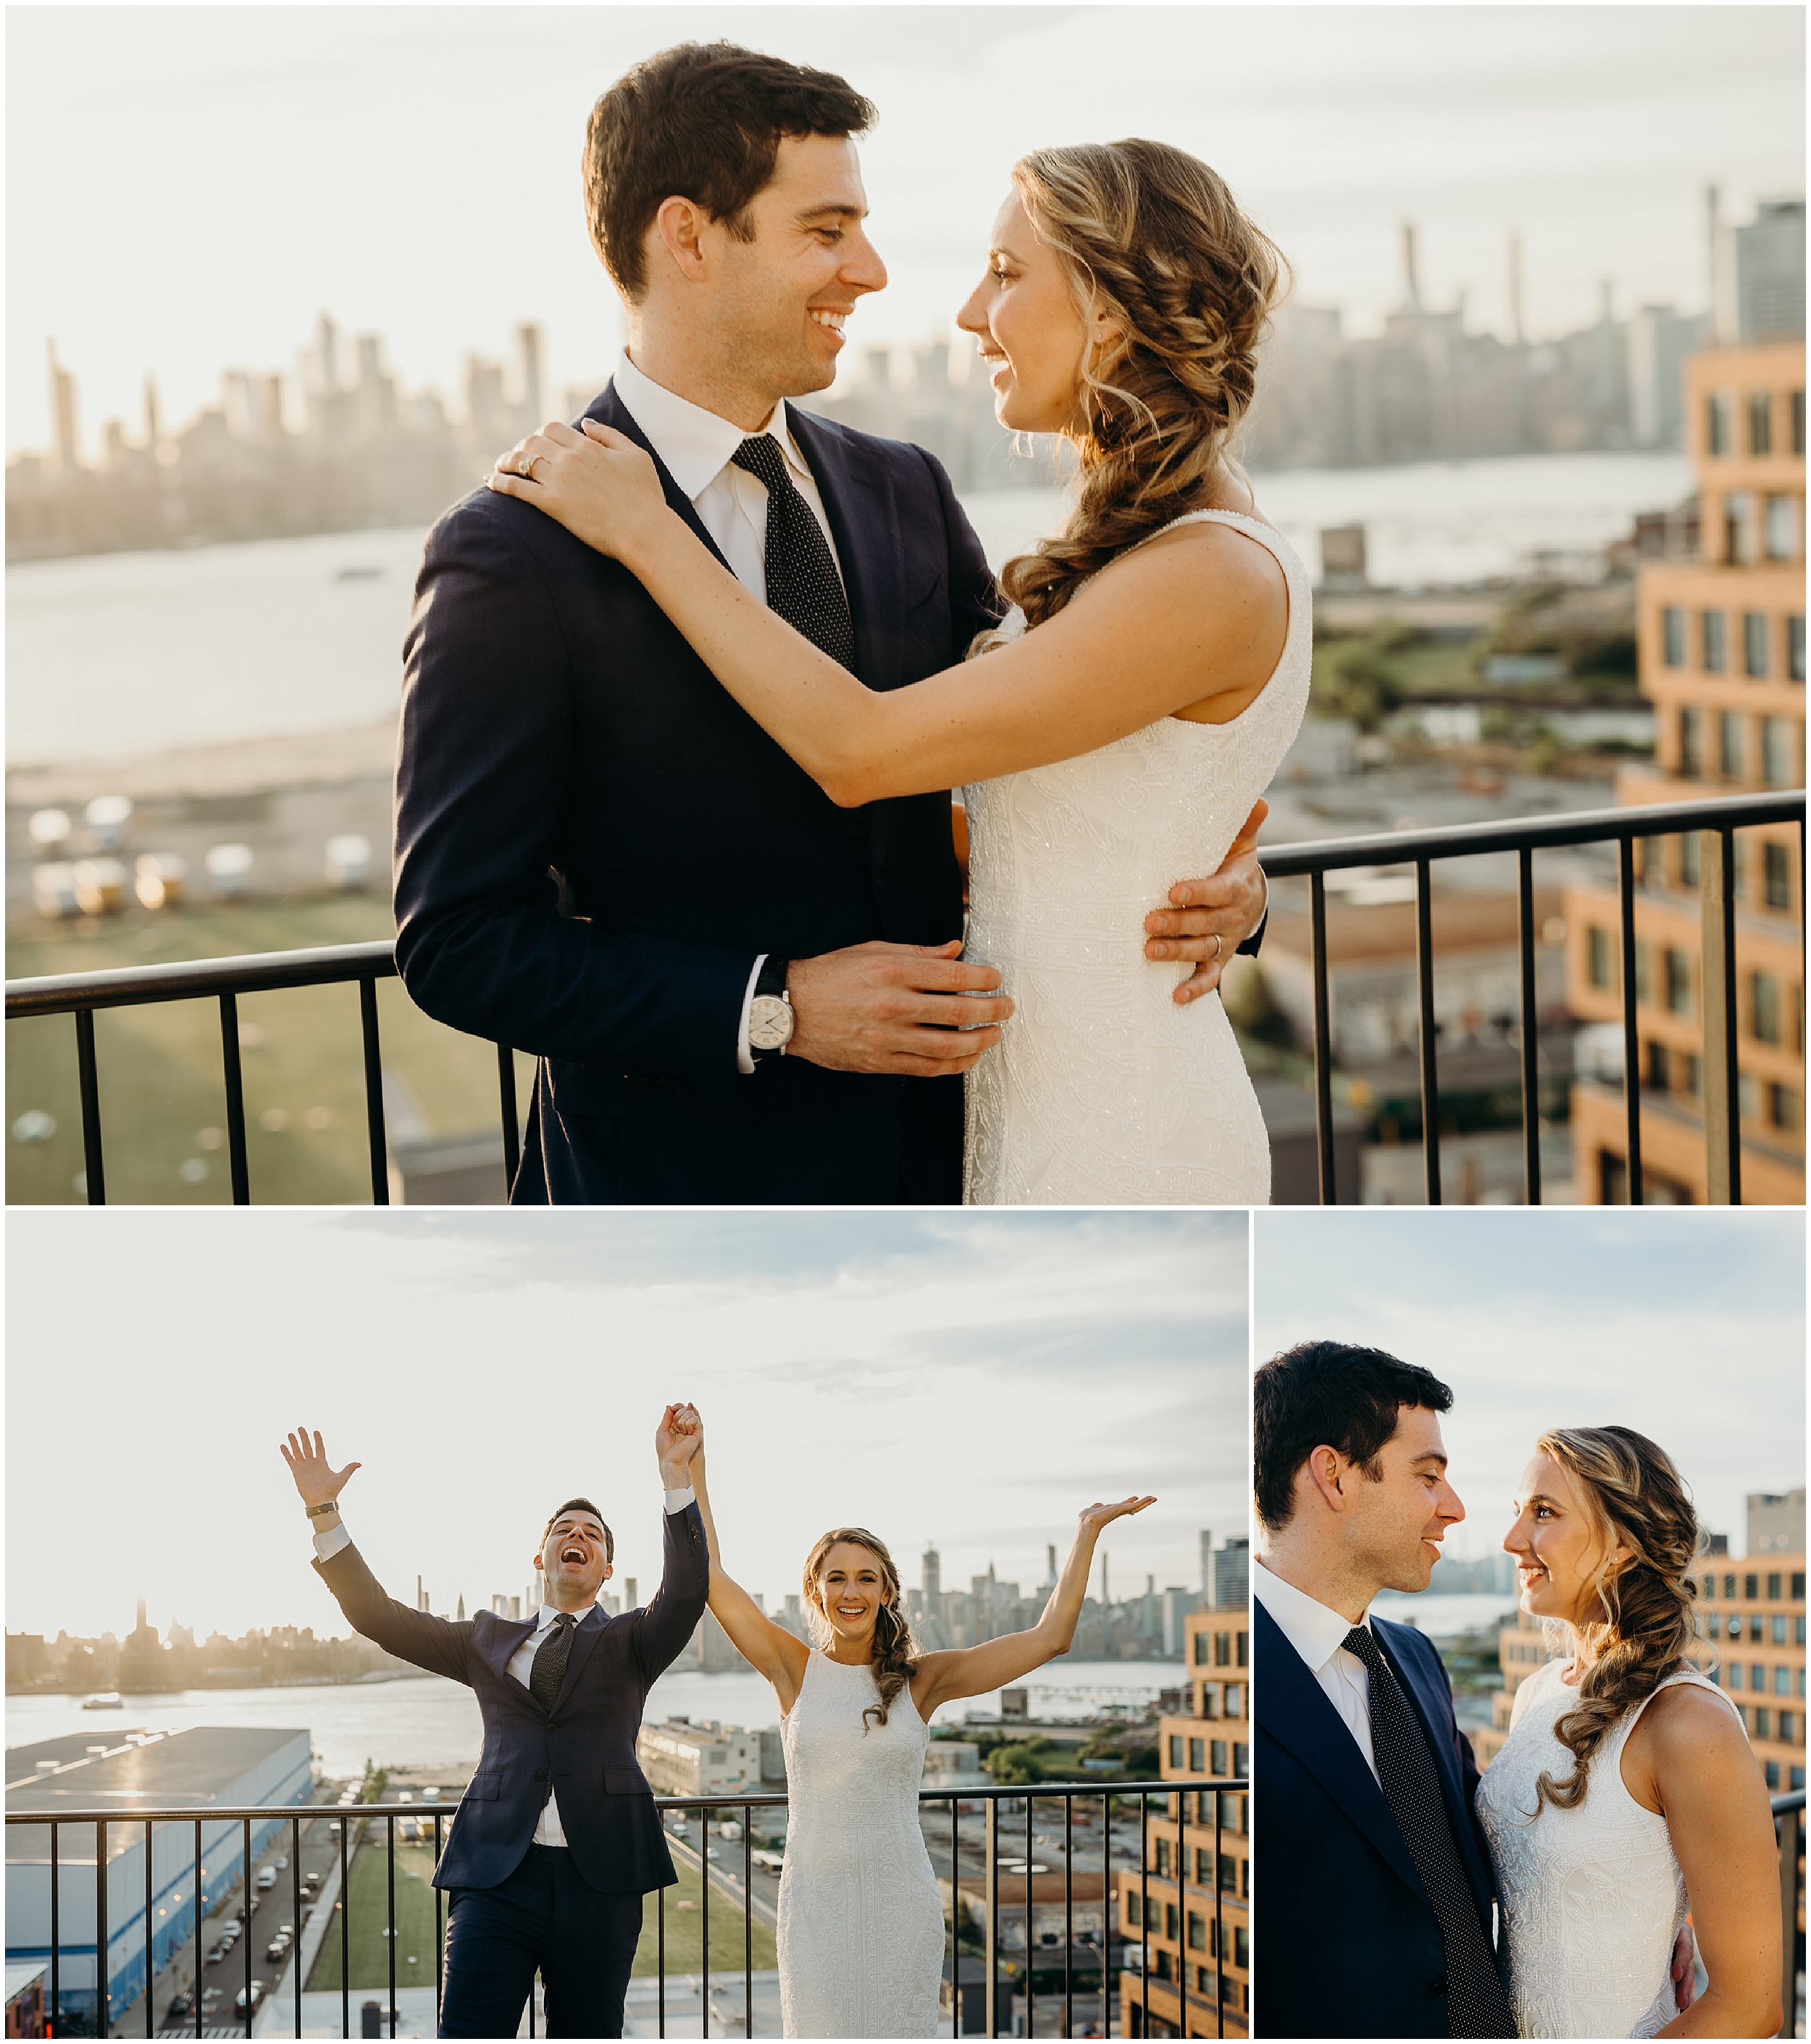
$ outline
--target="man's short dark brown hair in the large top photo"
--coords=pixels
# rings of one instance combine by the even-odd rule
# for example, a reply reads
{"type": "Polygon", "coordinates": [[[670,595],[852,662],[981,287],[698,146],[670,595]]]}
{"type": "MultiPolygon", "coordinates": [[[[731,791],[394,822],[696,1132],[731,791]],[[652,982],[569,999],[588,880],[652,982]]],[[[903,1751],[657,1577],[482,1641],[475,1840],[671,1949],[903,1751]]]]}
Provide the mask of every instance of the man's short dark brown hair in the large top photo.
{"type": "Polygon", "coordinates": [[[873,125],[873,104],[834,72],[736,43],[662,49],[591,108],[585,211],[603,268],[638,300],[648,288],[642,243],[668,198],[691,198],[748,241],[748,200],[773,178],[783,137],[873,125]]]}

